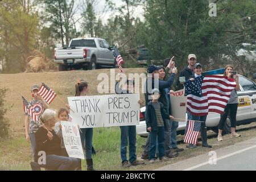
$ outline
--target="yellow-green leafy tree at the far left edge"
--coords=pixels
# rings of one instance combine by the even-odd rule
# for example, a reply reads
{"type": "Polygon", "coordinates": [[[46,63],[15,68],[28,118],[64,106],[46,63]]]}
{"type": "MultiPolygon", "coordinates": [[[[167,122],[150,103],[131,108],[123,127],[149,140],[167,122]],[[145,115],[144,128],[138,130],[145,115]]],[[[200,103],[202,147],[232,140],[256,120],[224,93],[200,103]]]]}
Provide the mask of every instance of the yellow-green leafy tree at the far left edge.
{"type": "Polygon", "coordinates": [[[30,1],[6,0],[0,6],[0,53],[3,72],[24,70],[26,59],[35,46],[38,16],[30,1]]]}

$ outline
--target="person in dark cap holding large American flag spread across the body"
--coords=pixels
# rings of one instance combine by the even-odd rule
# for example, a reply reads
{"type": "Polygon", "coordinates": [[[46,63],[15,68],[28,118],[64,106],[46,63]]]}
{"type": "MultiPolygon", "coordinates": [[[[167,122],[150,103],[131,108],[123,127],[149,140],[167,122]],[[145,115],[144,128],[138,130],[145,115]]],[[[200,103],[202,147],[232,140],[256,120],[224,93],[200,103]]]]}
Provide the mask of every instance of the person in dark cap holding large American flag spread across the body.
{"type": "Polygon", "coordinates": [[[184,142],[187,142],[187,148],[196,147],[196,142],[191,142],[195,141],[191,140],[191,137],[195,136],[191,135],[191,132],[196,133],[198,131],[198,127],[196,126],[199,126],[199,123],[201,123],[202,147],[212,148],[207,143],[207,126],[205,126],[208,112],[223,113],[229,101],[230,94],[237,85],[234,79],[226,76],[202,76],[202,71],[202,65],[196,63],[194,65],[195,74],[193,78],[185,82],[185,96],[187,96],[187,114],[189,120],[184,139],[184,142]]]}

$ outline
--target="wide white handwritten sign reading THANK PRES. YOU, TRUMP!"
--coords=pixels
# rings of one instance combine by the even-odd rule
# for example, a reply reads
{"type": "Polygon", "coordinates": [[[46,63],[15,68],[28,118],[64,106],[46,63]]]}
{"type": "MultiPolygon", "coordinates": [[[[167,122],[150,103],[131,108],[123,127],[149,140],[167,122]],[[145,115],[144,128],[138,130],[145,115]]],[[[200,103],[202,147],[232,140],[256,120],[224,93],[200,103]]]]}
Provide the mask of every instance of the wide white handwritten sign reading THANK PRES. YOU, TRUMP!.
{"type": "Polygon", "coordinates": [[[68,97],[72,122],[80,128],[138,125],[138,101],[139,94],[68,97]]]}

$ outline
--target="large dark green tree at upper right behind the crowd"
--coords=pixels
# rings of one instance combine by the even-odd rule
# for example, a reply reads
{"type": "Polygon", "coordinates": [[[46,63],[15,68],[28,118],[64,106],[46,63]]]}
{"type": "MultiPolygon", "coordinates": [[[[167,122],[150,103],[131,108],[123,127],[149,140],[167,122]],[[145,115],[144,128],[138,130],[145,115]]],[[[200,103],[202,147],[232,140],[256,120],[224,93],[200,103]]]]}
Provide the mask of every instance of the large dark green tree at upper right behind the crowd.
{"type": "Polygon", "coordinates": [[[209,4],[204,0],[166,0],[164,6],[160,0],[148,0],[144,17],[150,36],[145,39],[145,44],[151,49],[152,56],[164,59],[175,54],[180,68],[187,65],[189,53],[195,53],[205,69],[219,68],[221,63],[224,64],[221,62],[223,55],[236,52],[234,45],[238,44],[237,38],[242,37],[232,31],[243,17],[255,12],[255,1],[215,2],[217,17],[210,17],[209,4]],[[250,6],[250,11],[245,9],[247,6],[250,6]]]}

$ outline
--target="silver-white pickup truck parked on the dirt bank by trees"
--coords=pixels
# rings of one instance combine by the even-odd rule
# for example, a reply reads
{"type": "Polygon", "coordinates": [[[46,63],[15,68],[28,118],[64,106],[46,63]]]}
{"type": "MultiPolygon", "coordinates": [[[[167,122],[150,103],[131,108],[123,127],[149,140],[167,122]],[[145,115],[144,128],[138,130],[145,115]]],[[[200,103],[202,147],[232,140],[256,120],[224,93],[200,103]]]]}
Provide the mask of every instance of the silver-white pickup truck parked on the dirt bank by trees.
{"type": "Polygon", "coordinates": [[[59,64],[59,71],[68,67],[76,69],[97,69],[100,65],[115,68],[116,62],[108,42],[100,38],[72,39],[68,47],[54,49],[54,62],[59,64]]]}

